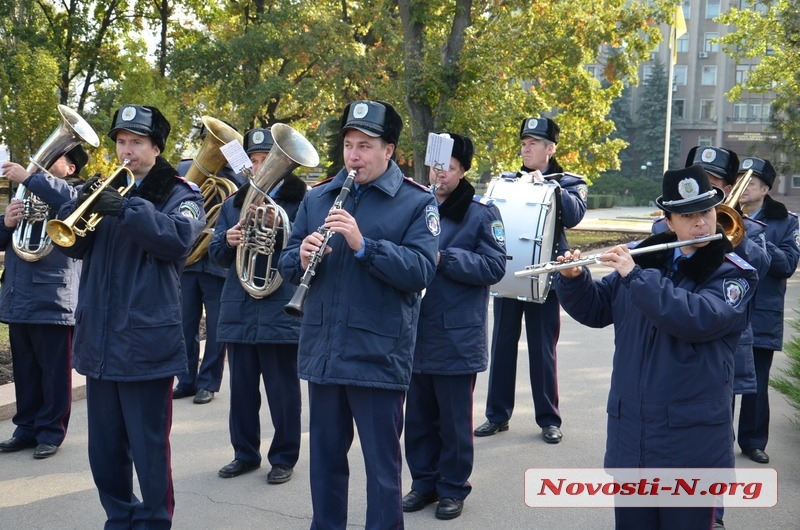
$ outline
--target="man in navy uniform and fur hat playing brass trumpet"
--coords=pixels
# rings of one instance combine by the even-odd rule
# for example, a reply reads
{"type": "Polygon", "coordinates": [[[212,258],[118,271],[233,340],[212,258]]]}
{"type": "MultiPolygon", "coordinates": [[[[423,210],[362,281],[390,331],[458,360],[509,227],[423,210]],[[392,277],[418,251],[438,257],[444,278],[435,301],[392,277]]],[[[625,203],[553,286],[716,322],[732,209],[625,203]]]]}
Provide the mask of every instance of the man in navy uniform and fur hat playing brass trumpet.
{"type": "Polygon", "coordinates": [[[59,212],[101,216],[61,250],[83,260],[73,365],[86,376],[89,464],[114,528],[172,523],[172,382],[186,371],[180,276],[205,213],[197,186],[161,156],[169,131],[155,107],[119,109],[108,136],[125,171],[108,178],[134,182],[123,195],[92,179],[59,212]]]}

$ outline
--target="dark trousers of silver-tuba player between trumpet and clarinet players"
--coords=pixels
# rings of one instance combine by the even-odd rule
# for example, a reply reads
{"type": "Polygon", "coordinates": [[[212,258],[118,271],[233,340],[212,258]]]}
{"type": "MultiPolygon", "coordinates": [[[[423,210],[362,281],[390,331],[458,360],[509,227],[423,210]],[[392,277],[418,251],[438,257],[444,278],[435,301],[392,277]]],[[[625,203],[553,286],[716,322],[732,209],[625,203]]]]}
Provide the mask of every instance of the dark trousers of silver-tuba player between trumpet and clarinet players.
{"type": "Polygon", "coordinates": [[[300,380],[297,344],[228,344],[234,458],[261,463],[261,381],[275,434],[267,452],[272,466],[293,468],[300,457],[300,380]]]}

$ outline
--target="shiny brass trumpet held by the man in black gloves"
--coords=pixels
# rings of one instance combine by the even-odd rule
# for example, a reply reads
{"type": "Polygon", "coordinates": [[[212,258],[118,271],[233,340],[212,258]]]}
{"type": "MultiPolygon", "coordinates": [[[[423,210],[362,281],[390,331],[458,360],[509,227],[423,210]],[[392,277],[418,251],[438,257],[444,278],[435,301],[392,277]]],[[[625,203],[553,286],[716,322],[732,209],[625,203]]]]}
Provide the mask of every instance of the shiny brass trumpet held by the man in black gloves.
{"type": "Polygon", "coordinates": [[[84,237],[89,232],[94,231],[100,221],[103,220],[103,215],[99,213],[89,213],[100,194],[104,189],[114,184],[117,180],[124,176],[125,185],[117,188],[120,195],[127,194],[135,185],[136,179],[133,172],[128,169],[128,160],[122,163],[122,167],[111,174],[110,177],[98,180],[92,185],[92,190],[86,200],[84,200],[72,214],[64,219],[51,219],[47,222],[47,235],[53,240],[53,243],[60,247],[71,247],[75,244],[79,237],[84,237]]]}

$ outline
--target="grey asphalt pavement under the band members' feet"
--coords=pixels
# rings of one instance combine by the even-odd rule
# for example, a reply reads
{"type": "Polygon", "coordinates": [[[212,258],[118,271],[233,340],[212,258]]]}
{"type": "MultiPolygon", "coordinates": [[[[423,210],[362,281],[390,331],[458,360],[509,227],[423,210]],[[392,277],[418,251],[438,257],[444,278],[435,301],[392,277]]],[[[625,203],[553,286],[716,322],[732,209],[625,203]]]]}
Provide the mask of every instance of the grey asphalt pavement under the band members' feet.
{"type": "MultiPolygon", "coordinates": [[[[647,226],[652,209],[590,210],[581,228],[622,229],[621,225],[647,226]],[[619,210],[619,211],[617,211],[619,210]],[[620,221],[633,217],[633,221],[620,221]],[[615,221],[616,220],[616,221],[615,221]],[[616,227],[616,228],[615,228],[616,227]]],[[[595,276],[604,274],[592,266],[595,276]]],[[[800,298],[800,278],[789,281],[786,297],[785,338],[797,332],[791,319],[800,298]]],[[[490,311],[491,313],[491,311],[490,311]]],[[[490,314],[491,318],[491,314],[490,314]]],[[[491,323],[489,324],[491,326],[491,323]]],[[[525,504],[524,473],[529,468],[600,468],[605,449],[605,403],[609,388],[613,331],[577,324],[562,312],[558,345],[560,408],[563,441],[548,445],[534,422],[530,383],[527,381],[527,344],[519,344],[517,407],[510,429],[475,439],[475,468],[470,479],[472,494],[461,517],[439,521],[434,507],[405,515],[409,529],[430,528],[613,528],[610,508],[530,508],[525,504]]],[[[772,373],[786,366],[776,353],[772,373]]],[[[474,423],[484,420],[488,373],[479,374],[475,388],[474,423]]],[[[233,458],[228,438],[227,372],[223,390],[207,405],[191,399],[174,403],[172,466],[175,485],[174,528],[178,529],[304,529],[312,510],[308,468],[308,396],[303,384],[303,446],[292,480],[269,485],[269,465],[237,478],[222,479],[217,470],[233,458]]],[[[79,399],[81,379],[76,378],[69,433],[59,452],[46,460],[34,460],[32,451],[0,454],[0,528],[86,529],[100,528],[105,520],[86,454],[86,402],[79,399]]],[[[9,406],[11,385],[0,387],[0,406],[9,406]],[[9,394],[10,391],[10,394],[9,394]],[[5,403],[4,403],[5,402],[5,403]]],[[[800,525],[800,430],[796,411],[784,397],[770,389],[772,421],[767,453],[770,464],[760,466],[737,451],[737,467],[770,467],[778,473],[778,503],[771,508],[729,508],[729,529],[798,528],[800,525]]],[[[13,401],[13,400],[12,400],[13,401]]],[[[13,407],[13,403],[11,403],[13,407]]],[[[6,415],[7,417],[8,415],[6,415]]],[[[13,432],[10,419],[0,421],[0,439],[13,432]]],[[[261,413],[262,450],[266,451],[273,429],[266,400],[261,413]]],[[[350,451],[349,527],[363,528],[366,510],[363,457],[356,438],[350,451]]],[[[403,489],[411,483],[404,466],[403,489]]]]}

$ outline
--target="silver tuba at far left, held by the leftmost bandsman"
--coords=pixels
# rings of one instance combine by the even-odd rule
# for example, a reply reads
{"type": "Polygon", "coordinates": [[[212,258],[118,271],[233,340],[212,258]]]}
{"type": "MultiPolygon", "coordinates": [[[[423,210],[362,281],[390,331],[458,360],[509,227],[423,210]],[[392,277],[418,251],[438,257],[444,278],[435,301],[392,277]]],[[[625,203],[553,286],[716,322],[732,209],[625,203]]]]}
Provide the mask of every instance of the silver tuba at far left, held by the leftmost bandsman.
{"type": "MultiPolygon", "coordinates": [[[[61,114],[61,124],[31,157],[28,173],[37,168],[49,173],[47,170],[56,160],[81,142],[92,147],[100,145],[97,133],[77,112],[65,105],[59,105],[58,112],[61,114]]],[[[22,220],[14,229],[12,238],[14,252],[25,261],[39,261],[53,250],[52,241],[46,233],[50,208],[22,184],[17,187],[14,198],[23,203],[22,220]]]]}

